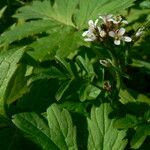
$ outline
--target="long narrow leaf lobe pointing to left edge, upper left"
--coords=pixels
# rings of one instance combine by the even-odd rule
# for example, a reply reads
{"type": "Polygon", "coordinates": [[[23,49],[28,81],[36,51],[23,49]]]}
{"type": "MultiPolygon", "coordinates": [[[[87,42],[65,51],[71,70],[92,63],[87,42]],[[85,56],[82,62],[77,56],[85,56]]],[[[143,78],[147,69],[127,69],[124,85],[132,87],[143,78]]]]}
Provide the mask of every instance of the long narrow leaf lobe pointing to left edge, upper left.
{"type": "Polygon", "coordinates": [[[4,32],[0,36],[0,44],[10,44],[25,37],[45,32],[54,27],[58,27],[58,24],[48,20],[26,22],[22,25],[17,25],[13,29],[4,32]]]}

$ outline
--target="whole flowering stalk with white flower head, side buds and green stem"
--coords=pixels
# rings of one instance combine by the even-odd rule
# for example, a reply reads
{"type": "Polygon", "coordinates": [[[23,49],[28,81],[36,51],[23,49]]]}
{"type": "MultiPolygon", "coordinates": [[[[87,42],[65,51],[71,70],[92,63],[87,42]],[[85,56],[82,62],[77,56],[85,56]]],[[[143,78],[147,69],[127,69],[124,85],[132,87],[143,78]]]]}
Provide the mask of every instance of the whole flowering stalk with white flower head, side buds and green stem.
{"type": "Polygon", "coordinates": [[[112,14],[99,16],[95,21],[89,20],[88,25],[88,30],[82,34],[84,41],[100,43],[105,46],[111,59],[100,60],[100,64],[104,67],[113,66],[116,69],[116,87],[120,89],[122,83],[120,72],[122,72],[122,69],[119,59],[122,58],[116,57],[115,51],[119,46],[125,49],[126,43],[134,43],[142,35],[144,28],[140,28],[135,34],[129,36],[125,29],[128,25],[127,20],[124,20],[120,15],[112,14]]]}

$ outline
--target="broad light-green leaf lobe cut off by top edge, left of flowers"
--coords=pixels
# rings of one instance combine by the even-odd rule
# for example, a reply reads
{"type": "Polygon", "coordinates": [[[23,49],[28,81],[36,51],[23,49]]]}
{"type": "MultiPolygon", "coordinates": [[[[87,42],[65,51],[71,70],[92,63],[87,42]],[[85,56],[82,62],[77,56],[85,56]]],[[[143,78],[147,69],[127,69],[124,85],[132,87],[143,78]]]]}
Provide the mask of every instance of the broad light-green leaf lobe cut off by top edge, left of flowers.
{"type": "Polygon", "coordinates": [[[78,0],[55,0],[53,6],[49,0],[33,1],[32,5],[24,6],[18,10],[14,17],[20,19],[49,19],[65,25],[74,26],[72,15],[78,0]]]}

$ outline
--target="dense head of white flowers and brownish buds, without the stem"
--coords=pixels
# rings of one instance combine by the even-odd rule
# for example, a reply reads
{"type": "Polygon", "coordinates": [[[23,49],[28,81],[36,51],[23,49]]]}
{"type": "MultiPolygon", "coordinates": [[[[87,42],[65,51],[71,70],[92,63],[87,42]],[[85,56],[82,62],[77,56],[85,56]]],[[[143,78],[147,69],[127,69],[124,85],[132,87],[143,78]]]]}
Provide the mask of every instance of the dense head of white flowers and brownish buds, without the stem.
{"type": "Polygon", "coordinates": [[[115,45],[120,45],[121,41],[131,42],[132,39],[125,35],[125,28],[122,27],[124,24],[128,24],[121,16],[99,16],[99,18],[94,22],[89,20],[89,28],[85,31],[82,36],[84,40],[89,41],[105,41],[106,38],[113,38],[115,45]],[[98,25],[99,21],[102,20],[103,23],[98,25]]]}

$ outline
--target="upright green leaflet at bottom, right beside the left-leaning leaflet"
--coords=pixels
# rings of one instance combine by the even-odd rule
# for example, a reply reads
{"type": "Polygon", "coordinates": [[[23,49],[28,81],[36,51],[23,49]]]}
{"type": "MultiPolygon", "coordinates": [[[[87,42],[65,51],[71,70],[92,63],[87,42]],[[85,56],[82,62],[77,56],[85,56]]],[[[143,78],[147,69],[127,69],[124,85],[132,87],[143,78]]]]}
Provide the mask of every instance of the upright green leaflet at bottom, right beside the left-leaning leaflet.
{"type": "Polygon", "coordinates": [[[53,104],[47,110],[51,139],[61,150],[77,150],[76,129],[71,116],[65,109],[53,104]]]}

